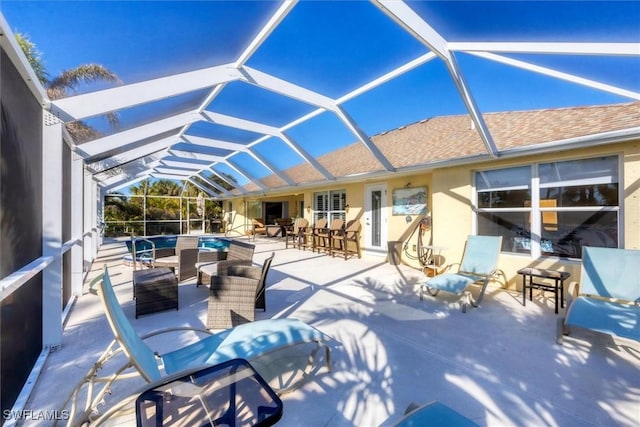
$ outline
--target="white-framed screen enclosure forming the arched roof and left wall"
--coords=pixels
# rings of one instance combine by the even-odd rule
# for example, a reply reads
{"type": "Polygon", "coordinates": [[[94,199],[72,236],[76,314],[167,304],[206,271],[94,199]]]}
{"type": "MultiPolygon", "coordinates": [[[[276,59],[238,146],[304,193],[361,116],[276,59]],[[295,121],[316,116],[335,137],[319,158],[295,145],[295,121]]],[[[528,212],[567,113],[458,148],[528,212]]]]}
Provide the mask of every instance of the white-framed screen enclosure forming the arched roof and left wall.
{"type": "MultiPolygon", "coordinates": [[[[638,22],[629,1],[1,2],[0,406],[24,404],[64,345],[105,210],[131,186],[188,182],[213,203],[508,158],[487,113],[640,100],[638,22]],[[65,74],[95,64],[108,79],[65,74]],[[377,144],[452,115],[480,151],[377,144]]],[[[213,212],[186,206],[164,231],[207,229],[213,212]]],[[[141,221],[117,233],[162,232],[141,221]]]]}

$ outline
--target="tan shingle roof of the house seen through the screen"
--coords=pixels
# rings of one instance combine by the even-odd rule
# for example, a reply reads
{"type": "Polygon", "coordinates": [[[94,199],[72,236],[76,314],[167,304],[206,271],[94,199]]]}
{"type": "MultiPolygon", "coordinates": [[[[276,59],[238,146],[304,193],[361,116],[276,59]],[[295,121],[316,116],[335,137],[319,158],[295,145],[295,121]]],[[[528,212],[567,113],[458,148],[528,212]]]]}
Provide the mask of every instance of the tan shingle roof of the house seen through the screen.
{"type": "MultiPolygon", "coordinates": [[[[506,150],[638,127],[640,102],[487,113],[484,119],[498,149],[506,150]]],[[[375,135],[372,141],[397,169],[487,154],[468,115],[421,120],[375,135]]],[[[336,177],[383,171],[360,143],[328,153],[318,161],[336,177]]],[[[303,184],[323,179],[306,163],[285,173],[303,184]]],[[[274,175],[262,182],[272,188],[282,185],[274,175]]]]}

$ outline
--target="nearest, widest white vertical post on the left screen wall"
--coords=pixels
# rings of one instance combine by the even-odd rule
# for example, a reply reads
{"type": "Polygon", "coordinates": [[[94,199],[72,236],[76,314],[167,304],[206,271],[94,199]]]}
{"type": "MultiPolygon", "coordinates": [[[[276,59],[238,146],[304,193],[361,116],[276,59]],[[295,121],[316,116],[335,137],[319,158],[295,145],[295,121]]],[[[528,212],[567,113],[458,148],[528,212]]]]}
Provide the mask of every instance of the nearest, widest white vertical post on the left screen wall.
{"type": "Polygon", "coordinates": [[[42,345],[62,345],[62,124],[43,111],[42,255],[53,261],[42,271],[42,345]]]}

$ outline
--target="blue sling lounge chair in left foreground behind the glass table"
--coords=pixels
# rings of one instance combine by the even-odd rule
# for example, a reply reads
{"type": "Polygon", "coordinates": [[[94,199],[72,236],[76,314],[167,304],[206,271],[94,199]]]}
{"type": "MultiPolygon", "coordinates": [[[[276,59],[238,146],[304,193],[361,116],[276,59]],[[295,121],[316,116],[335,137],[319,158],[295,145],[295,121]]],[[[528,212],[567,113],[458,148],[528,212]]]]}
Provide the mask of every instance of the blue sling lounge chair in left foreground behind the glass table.
{"type": "MultiPolygon", "coordinates": [[[[324,348],[327,369],[331,370],[330,349],[326,344],[330,337],[300,320],[287,318],[260,320],[217,333],[197,328],[177,327],[140,337],[118,302],[106,266],[103,274],[96,278],[91,286],[98,288],[98,295],[115,339],[65,401],[62,409],[69,408],[68,425],[87,423],[90,417],[95,415],[97,406],[103,403],[105,395],[111,392],[117,380],[141,376],[145,382],[151,383],[163,378],[158,365],[159,361],[164,366],[165,375],[173,375],[232,359],[245,359],[251,362],[261,356],[272,355],[278,350],[312,343],[315,347],[311,351],[309,364],[314,363],[315,355],[324,348]],[[186,330],[202,332],[207,336],[163,355],[154,353],[144,341],[152,336],[186,330]],[[113,373],[99,376],[109,360],[113,358],[116,361],[121,360],[122,355],[126,361],[120,367],[115,368],[113,373]],[[102,388],[98,387],[99,384],[103,384],[102,388]],[[82,402],[83,390],[86,392],[85,404],[79,408],[78,403],[82,402]]],[[[117,362],[114,361],[114,363],[117,362]]],[[[291,386],[293,385],[295,384],[291,386]]]]}

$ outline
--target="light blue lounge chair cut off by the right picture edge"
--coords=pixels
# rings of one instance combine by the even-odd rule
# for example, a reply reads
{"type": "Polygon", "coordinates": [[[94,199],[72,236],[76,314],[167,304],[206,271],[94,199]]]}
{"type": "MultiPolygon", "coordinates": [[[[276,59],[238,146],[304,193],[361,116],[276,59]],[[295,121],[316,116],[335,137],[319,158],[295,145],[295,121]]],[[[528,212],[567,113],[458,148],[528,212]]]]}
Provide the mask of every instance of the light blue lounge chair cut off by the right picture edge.
{"type": "Polygon", "coordinates": [[[574,327],[640,341],[640,250],[582,248],[580,283],[569,285],[558,344],[574,327]]]}

